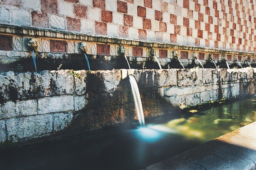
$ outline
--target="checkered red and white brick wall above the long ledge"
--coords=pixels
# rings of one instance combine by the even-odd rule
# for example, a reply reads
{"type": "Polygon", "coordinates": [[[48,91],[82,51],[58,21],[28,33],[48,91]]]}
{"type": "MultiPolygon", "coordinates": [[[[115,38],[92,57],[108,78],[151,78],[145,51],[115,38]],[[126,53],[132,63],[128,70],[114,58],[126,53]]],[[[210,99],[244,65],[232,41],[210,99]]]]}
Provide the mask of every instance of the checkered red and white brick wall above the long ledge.
{"type": "Polygon", "coordinates": [[[2,0],[0,23],[256,52],[256,0],[2,0]]]}

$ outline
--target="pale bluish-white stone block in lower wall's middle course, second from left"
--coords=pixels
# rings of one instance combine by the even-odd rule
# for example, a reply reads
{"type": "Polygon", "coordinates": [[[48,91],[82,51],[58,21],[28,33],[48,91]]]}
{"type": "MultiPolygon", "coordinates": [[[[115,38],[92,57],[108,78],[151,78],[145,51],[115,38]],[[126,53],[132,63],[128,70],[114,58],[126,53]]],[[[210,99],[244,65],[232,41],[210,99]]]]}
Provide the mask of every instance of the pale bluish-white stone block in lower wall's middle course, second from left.
{"type": "Polygon", "coordinates": [[[45,97],[38,99],[38,114],[74,110],[73,96],[45,97]]]}

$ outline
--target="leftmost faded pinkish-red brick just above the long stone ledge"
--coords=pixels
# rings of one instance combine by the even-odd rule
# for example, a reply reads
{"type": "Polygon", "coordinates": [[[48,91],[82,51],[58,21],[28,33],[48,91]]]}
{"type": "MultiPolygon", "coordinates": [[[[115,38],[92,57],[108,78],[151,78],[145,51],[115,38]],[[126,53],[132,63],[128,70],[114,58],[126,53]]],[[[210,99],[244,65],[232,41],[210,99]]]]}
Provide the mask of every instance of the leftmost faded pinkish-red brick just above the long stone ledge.
{"type": "Polygon", "coordinates": [[[32,26],[49,28],[49,19],[46,13],[32,11],[32,26]]]}

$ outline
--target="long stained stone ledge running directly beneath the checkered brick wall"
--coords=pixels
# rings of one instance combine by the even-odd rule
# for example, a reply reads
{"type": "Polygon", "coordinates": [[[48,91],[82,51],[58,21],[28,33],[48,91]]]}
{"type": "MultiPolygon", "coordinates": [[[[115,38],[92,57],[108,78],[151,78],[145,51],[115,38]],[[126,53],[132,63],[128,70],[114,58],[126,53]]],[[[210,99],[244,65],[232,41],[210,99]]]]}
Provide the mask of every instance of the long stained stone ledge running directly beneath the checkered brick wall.
{"type": "Polygon", "coordinates": [[[98,42],[98,43],[112,43],[112,44],[118,44],[118,45],[155,47],[155,48],[198,51],[198,52],[207,52],[207,53],[225,53],[225,54],[234,54],[234,55],[256,56],[256,53],[252,53],[252,52],[232,51],[232,50],[215,49],[215,48],[208,48],[208,47],[195,47],[195,46],[179,45],[179,44],[171,44],[171,43],[149,42],[144,40],[131,40],[126,38],[99,36],[99,35],[93,35],[93,34],[81,34],[77,32],[42,29],[42,28],[34,28],[34,27],[13,26],[8,24],[0,24],[0,34],[46,37],[46,38],[66,39],[66,40],[98,42]]]}

